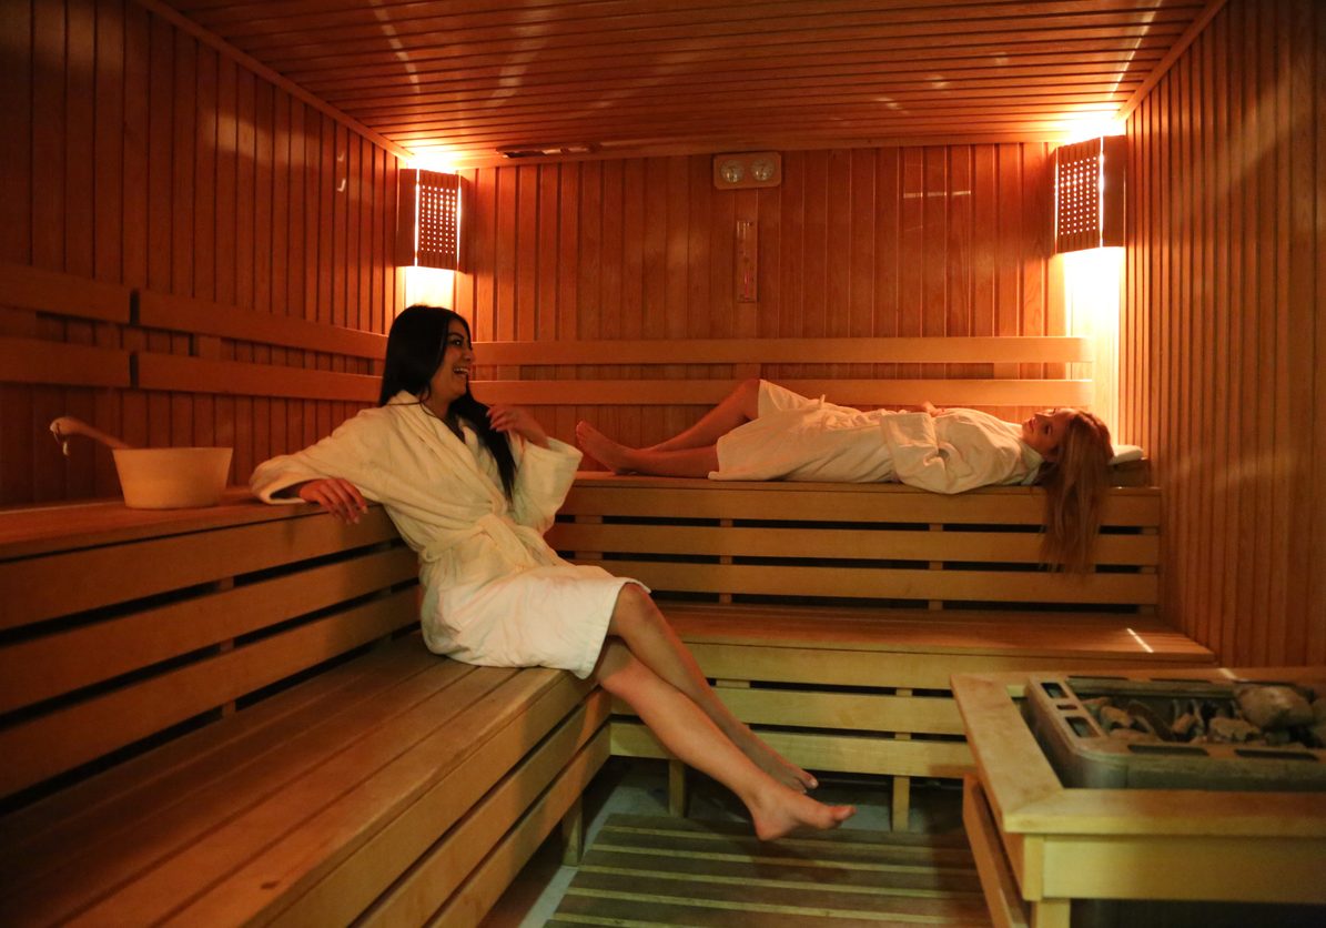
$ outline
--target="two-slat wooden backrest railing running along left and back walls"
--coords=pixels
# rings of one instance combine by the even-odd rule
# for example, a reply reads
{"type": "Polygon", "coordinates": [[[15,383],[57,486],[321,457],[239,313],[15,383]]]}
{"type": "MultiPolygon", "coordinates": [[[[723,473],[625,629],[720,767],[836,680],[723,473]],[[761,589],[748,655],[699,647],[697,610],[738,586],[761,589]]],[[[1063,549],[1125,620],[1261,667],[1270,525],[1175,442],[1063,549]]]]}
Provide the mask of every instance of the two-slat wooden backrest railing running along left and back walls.
{"type": "MultiPolygon", "coordinates": [[[[7,294],[0,300],[16,308],[190,338],[188,354],[168,354],[5,337],[5,382],[363,403],[377,398],[385,335],[9,264],[0,264],[0,288],[7,294]],[[373,373],[227,359],[220,339],[325,353],[373,373]]],[[[542,407],[708,406],[735,380],[789,365],[835,366],[833,377],[777,379],[801,394],[857,406],[1082,406],[1091,399],[1089,379],[1022,375],[1026,365],[1075,370],[1090,363],[1087,339],[1073,337],[479,342],[475,353],[475,388],[485,402],[542,407]],[[862,377],[863,365],[903,365],[907,375],[862,377]],[[952,375],[951,365],[964,366],[963,375],[952,375]]]]}

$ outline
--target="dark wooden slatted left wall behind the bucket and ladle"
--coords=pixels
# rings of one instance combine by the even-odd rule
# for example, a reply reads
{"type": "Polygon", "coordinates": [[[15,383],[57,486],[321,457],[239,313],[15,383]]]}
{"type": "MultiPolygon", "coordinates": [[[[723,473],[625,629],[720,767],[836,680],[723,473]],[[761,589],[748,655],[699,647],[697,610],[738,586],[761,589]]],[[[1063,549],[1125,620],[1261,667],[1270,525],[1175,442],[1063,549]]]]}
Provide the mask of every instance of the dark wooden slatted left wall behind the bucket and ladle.
{"type": "MultiPolygon", "coordinates": [[[[127,0],[5,3],[0,261],[385,331],[396,159],[127,0]]],[[[369,373],[332,354],[16,309],[0,337],[369,373]],[[192,342],[192,343],[191,343],[192,342]]],[[[0,378],[3,378],[0,373],[0,378]]],[[[115,494],[58,456],[72,414],[142,444],[233,444],[232,480],[325,434],[339,402],[0,383],[0,504],[115,494]]]]}

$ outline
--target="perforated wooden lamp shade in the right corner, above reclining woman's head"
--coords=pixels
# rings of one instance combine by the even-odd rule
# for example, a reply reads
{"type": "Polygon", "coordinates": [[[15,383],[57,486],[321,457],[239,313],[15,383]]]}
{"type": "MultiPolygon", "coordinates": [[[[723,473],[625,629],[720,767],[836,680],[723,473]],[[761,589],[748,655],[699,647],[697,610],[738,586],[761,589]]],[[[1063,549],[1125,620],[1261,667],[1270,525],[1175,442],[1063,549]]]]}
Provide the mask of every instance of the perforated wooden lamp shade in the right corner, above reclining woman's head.
{"type": "Polygon", "coordinates": [[[1123,244],[1127,137],[1103,135],[1054,152],[1054,251],[1123,244]]]}

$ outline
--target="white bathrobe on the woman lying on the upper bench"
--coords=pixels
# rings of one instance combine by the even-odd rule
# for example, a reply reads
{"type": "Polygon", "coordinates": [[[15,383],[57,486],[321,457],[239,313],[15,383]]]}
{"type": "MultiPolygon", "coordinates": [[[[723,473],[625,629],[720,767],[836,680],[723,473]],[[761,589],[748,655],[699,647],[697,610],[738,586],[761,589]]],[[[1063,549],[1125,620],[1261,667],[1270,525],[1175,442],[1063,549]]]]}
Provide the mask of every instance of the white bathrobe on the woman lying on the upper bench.
{"type": "Polygon", "coordinates": [[[758,418],[717,443],[711,480],[898,481],[935,493],[1030,484],[1042,457],[1021,426],[977,410],[862,412],[760,382],[758,418]]]}

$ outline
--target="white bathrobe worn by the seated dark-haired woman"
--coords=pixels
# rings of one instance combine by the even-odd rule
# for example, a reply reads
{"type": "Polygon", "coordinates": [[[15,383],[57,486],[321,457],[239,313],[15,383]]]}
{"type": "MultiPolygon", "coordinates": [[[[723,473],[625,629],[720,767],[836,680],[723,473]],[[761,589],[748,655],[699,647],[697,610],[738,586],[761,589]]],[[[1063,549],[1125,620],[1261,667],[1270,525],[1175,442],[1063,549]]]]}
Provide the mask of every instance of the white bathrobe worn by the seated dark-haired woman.
{"type": "Polygon", "coordinates": [[[359,412],[330,436],[257,467],[267,502],[306,480],[342,477],[381,502],[419,554],[424,642],[471,664],[556,667],[589,676],[627,578],[557,557],[544,541],[581,453],[512,440],[516,484],[468,427],[456,437],[414,396],[359,412]]]}

